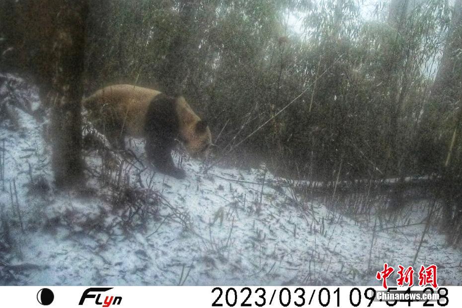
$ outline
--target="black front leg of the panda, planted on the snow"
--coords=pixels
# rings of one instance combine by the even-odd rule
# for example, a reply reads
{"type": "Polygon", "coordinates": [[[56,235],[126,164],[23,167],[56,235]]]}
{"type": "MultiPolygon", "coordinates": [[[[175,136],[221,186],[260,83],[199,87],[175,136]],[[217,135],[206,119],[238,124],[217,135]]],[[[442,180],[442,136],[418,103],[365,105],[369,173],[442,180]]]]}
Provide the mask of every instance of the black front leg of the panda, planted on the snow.
{"type": "Polygon", "coordinates": [[[173,142],[150,137],[146,139],[146,154],[154,166],[162,173],[171,175],[177,179],[186,177],[183,169],[175,167],[171,156],[173,142]]]}

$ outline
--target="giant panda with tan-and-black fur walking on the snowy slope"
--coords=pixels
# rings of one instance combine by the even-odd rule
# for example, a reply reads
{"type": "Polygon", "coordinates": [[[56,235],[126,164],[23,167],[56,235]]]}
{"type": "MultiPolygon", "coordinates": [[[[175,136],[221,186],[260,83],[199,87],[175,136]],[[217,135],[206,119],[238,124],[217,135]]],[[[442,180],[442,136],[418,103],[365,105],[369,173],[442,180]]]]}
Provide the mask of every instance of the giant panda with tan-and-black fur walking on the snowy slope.
{"type": "Polygon", "coordinates": [[[210,129],[191,109],[183,96],[130,84],[117,84],[97,90],[84,98],[83,106],[96,130],[118,149],[125,148],[125,136],[144,138],[145,151],[162,173],[184,178],[171,157],[175,139],[193,157],[204,158],[212,145],[210,129]]]}

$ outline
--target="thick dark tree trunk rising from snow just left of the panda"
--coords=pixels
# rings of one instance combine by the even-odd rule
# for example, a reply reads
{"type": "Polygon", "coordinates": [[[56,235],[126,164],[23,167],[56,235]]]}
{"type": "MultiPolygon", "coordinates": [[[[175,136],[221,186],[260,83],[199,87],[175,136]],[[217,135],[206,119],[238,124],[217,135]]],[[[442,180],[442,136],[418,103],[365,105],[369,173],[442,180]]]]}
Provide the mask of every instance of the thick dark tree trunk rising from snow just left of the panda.
{"type": "Polygon", "coordinates": [[[72,186],[83,180],[80,100],[87,13],[86,1],[65,1],[58,13],[51,51],[55,70],[48,99],[52,107],[52,166],[59,186],[72,186]]]}

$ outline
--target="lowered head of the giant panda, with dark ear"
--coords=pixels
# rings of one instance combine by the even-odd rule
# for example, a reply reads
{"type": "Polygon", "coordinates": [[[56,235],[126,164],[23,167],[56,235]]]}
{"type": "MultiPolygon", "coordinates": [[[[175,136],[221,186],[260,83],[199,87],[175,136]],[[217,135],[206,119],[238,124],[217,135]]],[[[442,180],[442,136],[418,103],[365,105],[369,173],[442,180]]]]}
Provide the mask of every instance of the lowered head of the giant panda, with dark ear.
{"type": "Polygon", "coordinates": [[[212,147],[212,134],[206,121],[198,120],[189,126],[184,146],[194,158],[204,159],[208,156],[212,147]]]}

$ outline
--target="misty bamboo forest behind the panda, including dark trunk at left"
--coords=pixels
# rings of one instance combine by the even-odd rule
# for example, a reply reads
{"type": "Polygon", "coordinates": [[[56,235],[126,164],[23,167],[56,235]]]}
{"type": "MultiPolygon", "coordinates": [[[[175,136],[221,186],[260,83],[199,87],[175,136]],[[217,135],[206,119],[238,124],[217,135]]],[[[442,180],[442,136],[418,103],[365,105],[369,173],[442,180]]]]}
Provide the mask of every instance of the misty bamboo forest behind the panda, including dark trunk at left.
{"type": "Polygon", "coordinates": [[[328,203],[417,193],[461,245],[462,0],[2,0],[0,71],[52,110],[57,181],[81,177],[80,98],[132,83],[183,94],[220,164],[328,203]]]}

